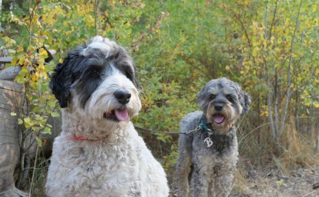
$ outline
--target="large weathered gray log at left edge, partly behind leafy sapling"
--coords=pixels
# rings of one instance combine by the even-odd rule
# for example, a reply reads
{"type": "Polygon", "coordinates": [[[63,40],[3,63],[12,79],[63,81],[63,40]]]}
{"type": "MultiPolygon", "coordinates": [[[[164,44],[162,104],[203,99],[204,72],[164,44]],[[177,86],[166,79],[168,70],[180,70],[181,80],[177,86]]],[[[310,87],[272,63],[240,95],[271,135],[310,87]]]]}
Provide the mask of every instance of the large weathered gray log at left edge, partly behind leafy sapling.
{"type": "MultiPolygon", "coordinates": [[[[21,105],[22,99],[23,92],[19,84],[0,80],[0,196],[4,197],[29,196],[15,188],[13,178],[14,169],[19,164],[22,132],[18,125],[18,116],[11,116],[10,113],[19,113],[17,104],[21,105]]],[[[47,142],[41,147],[41,152],[51,151],[53,139],[61,130],[58,118],[51,118],[48,122],[53,126],[52,135],[43,135],[47,142]]],[[[34,136],[30,136],[26,142],[33,139],[34,136]]],[[[30,156],[35,156],[36,147],[37,144],[34,143],[29,151],[30,156]]]]}

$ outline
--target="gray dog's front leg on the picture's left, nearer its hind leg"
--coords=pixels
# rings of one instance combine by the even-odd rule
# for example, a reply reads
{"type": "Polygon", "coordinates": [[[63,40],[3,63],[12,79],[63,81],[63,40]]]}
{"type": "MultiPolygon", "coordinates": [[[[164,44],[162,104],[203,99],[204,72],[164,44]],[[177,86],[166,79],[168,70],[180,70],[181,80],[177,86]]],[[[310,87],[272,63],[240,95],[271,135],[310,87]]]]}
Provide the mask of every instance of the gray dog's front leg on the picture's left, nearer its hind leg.
{"type": "MultiPolygon", "coordinates": [[[[196,155],[196,154],[193,154],[196,155]]],[[[208,187],[212,178],[212,168],[206,156],[197,155],[193,157],[194,172],[192,186],[194,197],[207,197],[208,187]]]]}

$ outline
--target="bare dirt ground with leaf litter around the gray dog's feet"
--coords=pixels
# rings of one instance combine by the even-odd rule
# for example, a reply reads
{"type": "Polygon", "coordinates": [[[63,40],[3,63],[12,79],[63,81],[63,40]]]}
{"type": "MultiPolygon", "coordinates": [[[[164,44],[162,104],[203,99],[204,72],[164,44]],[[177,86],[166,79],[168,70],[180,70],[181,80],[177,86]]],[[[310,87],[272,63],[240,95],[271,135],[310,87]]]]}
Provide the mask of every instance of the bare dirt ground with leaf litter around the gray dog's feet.
{"type": "MultiPolygon", "coordinates": [[[[170,197],[175,197],[177,182],[173,171],[168,179],[170,197]]],[[[243,166],[235,173],[229,197],[319,197],[319,168],[300,168],[283,175],[274,169],[256,170],[251,165],[243,166]]]]}

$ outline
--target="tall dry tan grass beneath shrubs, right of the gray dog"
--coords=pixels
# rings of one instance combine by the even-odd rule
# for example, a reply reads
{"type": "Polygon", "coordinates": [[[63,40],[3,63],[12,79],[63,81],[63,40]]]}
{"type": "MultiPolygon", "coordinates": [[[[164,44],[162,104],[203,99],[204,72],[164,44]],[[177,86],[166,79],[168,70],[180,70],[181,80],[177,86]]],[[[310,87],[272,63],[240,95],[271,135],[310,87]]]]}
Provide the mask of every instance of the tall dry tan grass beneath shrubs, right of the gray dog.
{"type": "Polygon", "coordinates": [[[238,129],[240,157],[256,166],[275,166],[283,174],[299,167],[318,166],[315,129],[312,129],[311,135],[302,134],[296,131],[293,121],[290,122],[285,125],[279,139],[280,146],[276,149],[269,124],[255,129],[248,120],[242,120],[238,129]]]}

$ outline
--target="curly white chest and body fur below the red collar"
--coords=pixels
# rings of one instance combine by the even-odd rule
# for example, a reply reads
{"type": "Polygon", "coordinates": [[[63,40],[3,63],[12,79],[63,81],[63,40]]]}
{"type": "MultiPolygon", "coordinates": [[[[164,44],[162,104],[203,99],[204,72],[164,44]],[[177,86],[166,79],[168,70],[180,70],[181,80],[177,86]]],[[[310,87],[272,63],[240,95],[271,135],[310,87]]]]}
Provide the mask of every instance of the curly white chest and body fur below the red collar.
{"type": "Polygon", "coordinates": [[[167,196],[165,173],[131,123],[107,141],[58,136],[48,171],[49,196],[167,196]]]}

